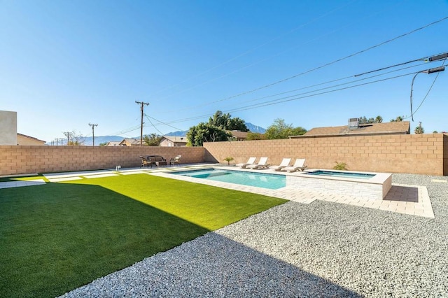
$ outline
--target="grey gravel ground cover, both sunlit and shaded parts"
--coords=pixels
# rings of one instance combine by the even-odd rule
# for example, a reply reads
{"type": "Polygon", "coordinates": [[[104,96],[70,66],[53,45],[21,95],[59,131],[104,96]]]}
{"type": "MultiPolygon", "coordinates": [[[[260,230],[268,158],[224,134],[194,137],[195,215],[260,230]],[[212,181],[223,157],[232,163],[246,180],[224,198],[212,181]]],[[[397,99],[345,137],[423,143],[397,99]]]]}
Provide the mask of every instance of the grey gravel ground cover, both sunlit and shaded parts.
{"type": "Polygon", "coordinates": [[[448,297],[447,177],[435,219],[288,202],[99,278],[64,297],[448,297]]]}

